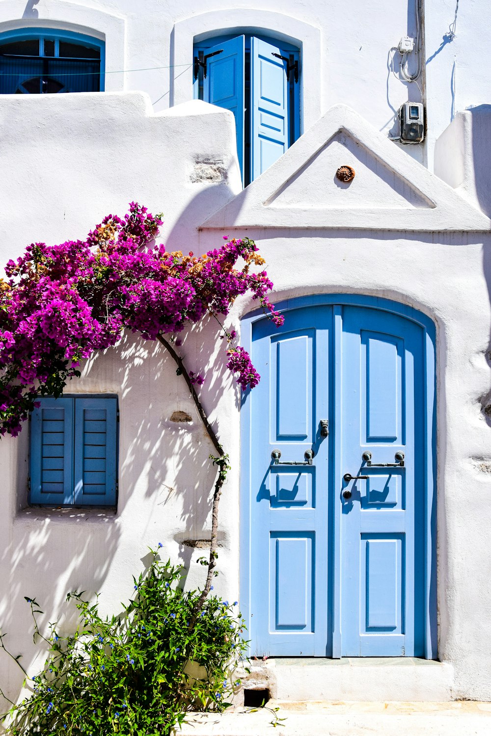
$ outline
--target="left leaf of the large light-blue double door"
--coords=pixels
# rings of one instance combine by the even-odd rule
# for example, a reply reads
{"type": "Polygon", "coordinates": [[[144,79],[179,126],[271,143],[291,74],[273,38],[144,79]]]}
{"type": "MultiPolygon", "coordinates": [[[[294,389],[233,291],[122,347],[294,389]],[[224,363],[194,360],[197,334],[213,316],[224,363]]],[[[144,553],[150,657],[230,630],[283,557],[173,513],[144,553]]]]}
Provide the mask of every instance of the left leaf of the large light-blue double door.
{"type": "Polygon", "coordinates": [[[318,428],[329,416],[331,322],[330,307],[300,310],[253,334],[250,638],[261,657],[330,654],[328,442],[318,428]],[[313,449],[314,462],[272,464],[277,449],[291,462],[313,449]]]}

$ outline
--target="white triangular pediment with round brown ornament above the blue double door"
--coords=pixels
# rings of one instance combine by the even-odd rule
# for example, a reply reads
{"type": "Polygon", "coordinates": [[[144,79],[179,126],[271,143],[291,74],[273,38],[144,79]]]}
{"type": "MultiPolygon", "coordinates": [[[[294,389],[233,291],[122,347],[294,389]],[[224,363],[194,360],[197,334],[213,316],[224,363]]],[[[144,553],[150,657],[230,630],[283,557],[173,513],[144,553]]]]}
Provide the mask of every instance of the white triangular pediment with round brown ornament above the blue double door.
{"type": "Polygon", "coordinates": [[[202,228],[490,230],[491,221],[345,105],[336,105],[202,228]],[[355,177],[339,181],[350,166],[355,177]]]}

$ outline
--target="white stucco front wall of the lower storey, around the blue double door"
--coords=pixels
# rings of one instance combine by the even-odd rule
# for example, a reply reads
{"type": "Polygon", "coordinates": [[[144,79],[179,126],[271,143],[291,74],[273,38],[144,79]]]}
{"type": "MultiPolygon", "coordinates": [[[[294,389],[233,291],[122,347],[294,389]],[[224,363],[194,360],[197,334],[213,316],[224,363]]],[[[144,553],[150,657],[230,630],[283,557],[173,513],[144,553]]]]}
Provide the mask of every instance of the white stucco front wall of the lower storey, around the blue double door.
{"type": "MultiPolygon", "coordinates": [[[[205,103],[155,114],[149,99],[138,93],[0,99],[1,263],[33,240],[85,236],[106,213],[122,213],[130,199],[137,199],[154,212],[164,211],[161,239],[171,248],[208,250],[219,244],[225,227],[225,234],[255,238],[275,283],[275,300],[312,293],[377,294],[431,316],[437,324],[439,658],[451,672],[448,697],[491,700],[491,454],[490,427],[481,411],[490,391],[489,220],[404,152],[394,156],[392,144],[342,107],[328,113],[310,137],[305,135],[304,146],[292,148],[289,158],[272,169],[277,188],[294,182],[294,171],[305,170],[302,187],[290,190],[288,207],[275,210],[274,199],[264,196],[266,174],[233,199],[241,191],[234,141],[231,114],[205,103]],[[343,147],[336,131],[348,123],[351,138],[343,147]],[[325,146],[331,137],[332,144],[325,146]],[[341,194],[332,189],[331,168],[336,161],[349,163],[345,157],[353,155],[355,139],[364,156],[357,175],[362,188],[364,177],[370,183],[366,191],[370,207],[377,209],[376,225],[360,217],[359,192],[349,199],[343,190],[340,206],[341,194]],[[308,166],[319,146],[325,150],[324,178],[316,169],[309,179],[308,166]],[[412,199],[401,199],[403,184],[412,199]],[[325,202],[314,197],[319,185],[325,202]],[[325,214],[327,208],[331,218],[311,227],[313,208],[305,202],[309,188],[317,212],[325,214]],[[428,191],[431,206],[427,202],[422,208],[420,198],[428,191]],[[242,210],[234,214],[234,202],[244,198],[252,213],[266,202],[264,210],[275,212],[272,221],[241,222],[242,210]],[[299,218],[294,226],[286,220],[292,207],[299,218]],[[198,230],[206,220],[213,224],[216,210],[219,224],[198,230]],[[395,224],[403,222],[401,210],[408,215],[406,227],[395,224]],[[452,210],[455,219],[445,231],[445,212],[450,216],[452,210]],[[417,219],[429,211],[442,217],[436,232],[417,219]],[[471,220],[480,232],[472,231],[471,220]]],[[[239,327],[249,308],[247,300],[236,302],[230,321],[239,327]]],[[[222,575],[216,590],[235,600],[239,395],[224,355],[216,352],[220,346],[213,347],[215,336],[214,325],[208,325],[188,336],[184,349],[191,367],[208,369],[202,401],[219,436],[226,438],[234,469],[220,510],[222,575]]],[[[24,666],[32,665],[34,651],[24,595],[42,602],[45,623],[66,610],[66,592],[74,588],[101,591],[102,608],[113,610],[132,590],[131,575],[141,569],[146,545],[157,542],[163,543],[163,556],[189,566],[189,585],[203,574],[193,562],[202,551],[191,554],[182,542],[209,534],[211,476],[203,467],[211,447],[174,364],[160,347],[129,336],[120,347],[88,361],[82,379],[69,388],[119,395],[119,506],[116,515],[27,509],[26,428],[18,439],[1,439],[0,624],[9,632],[11,650],[24,652],[24,666]],[[193,424],[170,422],[175,410],[188,411],[193,424]]],[[[7,681],[7,692],[16,696],[20,679],[5,657],[0,672],[2,687],[7,681]]],[[[400,699],[406,697],[401,685],[400,699]]]]}

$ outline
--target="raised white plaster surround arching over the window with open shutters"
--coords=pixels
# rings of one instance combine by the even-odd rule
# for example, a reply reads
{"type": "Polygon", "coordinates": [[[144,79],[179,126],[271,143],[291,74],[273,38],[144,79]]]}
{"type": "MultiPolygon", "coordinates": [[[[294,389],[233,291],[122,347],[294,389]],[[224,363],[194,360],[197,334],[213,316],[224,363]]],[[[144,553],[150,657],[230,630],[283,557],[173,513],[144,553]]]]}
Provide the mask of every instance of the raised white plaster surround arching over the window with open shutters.
{"type": "Polygon", "coordinates": [[[300,105],[301,130],[308,130],[322,115],[322,94],[325,90],[324,64],[319,28],[293,18],[292,15],[271,10],[227,8],[191,15],[174,25],[174,54],[176,66],[171,83],[172,105],[193,98],[193,46],[197,40],[225,33],[258,33],[300,46],[300,105]],[[184,66],[189,68],[183,74],[184,66]]]}

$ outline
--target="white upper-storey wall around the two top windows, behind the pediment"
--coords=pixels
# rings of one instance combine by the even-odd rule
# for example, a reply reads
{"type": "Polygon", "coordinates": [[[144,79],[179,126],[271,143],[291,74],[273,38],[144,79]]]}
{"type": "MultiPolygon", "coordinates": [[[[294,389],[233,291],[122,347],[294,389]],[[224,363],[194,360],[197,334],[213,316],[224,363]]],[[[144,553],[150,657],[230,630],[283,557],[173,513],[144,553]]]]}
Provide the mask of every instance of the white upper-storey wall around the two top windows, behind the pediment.
{"type": "MultiPolygon", "coordinates": [[[[303,53],[303,130],[331,105],[350,105],[378,130],[395,135],[395,115],[407,99],[420,100],[400,78],[401,36],[415,35],[415,0],[0,0],[0,32],[21,26],[93,32],[106,41],[106,89],[141,90],[155,110],[191,99],[195,36],[235,30],[268,32],[299,43],[303,53]],[[123,70],[124,73],[123,73],[123,70]],[[395,74],[394,74],[395,71],[395,74]]],[[[488,102],[488,0],[424,4],[426,73],[420,79],[428,107],[427,146],[406,146],[430,168],[434,143],[458,110],[488,102]],[[449,32],[452,26],[452,35],[449,32]]],[[[409,60],[409,71],[414,60],[409,60]]]]}

